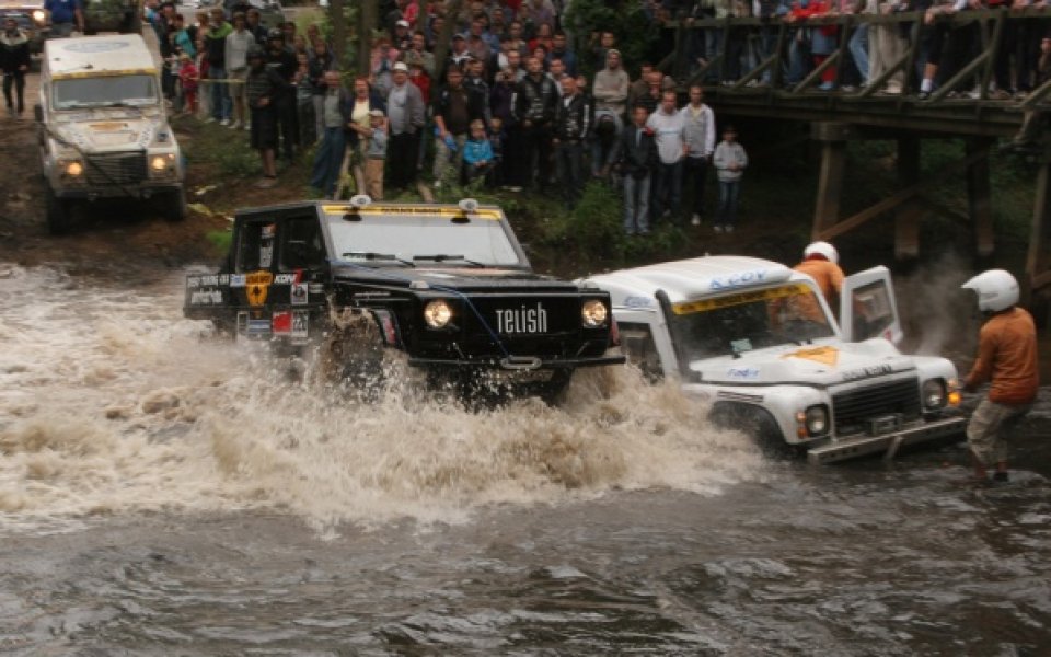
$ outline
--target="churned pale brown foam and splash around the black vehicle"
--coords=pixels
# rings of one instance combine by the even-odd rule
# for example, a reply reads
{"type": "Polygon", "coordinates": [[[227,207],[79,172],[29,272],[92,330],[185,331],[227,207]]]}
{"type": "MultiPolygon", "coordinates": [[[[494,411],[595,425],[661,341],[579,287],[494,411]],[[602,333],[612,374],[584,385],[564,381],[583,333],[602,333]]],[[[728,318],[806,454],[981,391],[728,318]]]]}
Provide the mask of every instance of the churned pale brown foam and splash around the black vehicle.
{"type": "Polygon", "coordinates": [[[290,382],[261,345],[182,318],[182,280],[78,287],[0,274],[0,511],[9,526],[128,510],[269,508],[317,527],[462,521],[480,505],[613,488],[716,494],[765,476],[672,384],[578,372],[557,407],[472,413],[409,385],[376,403],[290,382]]]}

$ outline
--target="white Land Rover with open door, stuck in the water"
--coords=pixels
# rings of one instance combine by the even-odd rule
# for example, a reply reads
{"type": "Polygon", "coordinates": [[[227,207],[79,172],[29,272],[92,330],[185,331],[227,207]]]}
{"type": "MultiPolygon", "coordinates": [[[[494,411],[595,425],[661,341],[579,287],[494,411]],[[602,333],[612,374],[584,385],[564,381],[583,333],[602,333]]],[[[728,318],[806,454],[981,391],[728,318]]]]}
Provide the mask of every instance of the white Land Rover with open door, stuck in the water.
{"type": "Polygon", "coordinates": [[[628,359],[677,377],[720,424],[782,439],[824,463],[962,433],[956,367],[894,346],[890,275],[847,278],[840,323],[809,276],[706,256],[586,279],[608,290],[628,359]]]}

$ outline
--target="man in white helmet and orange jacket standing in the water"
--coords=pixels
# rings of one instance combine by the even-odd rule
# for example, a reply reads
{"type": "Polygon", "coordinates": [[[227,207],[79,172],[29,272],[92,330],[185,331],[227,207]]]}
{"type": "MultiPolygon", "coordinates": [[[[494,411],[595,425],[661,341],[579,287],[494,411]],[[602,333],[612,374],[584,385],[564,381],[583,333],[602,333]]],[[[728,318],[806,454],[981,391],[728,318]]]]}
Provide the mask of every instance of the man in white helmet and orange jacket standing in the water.
{"type": "Polygon", "coordinates": [[[967,425],[967,445],[974,461],[977,483],[1007,481],[1007,452],[1002,431],[1016,424],[1037,397],[1037,330],[1032,316],[1018,303],[1018,281],[1003,269],[990,269],[961,286],[978,293],[978,309],[988,318],[979,333],[978,358],[963,382],[974,392],[985,381],[989,394],[967,425]]]}

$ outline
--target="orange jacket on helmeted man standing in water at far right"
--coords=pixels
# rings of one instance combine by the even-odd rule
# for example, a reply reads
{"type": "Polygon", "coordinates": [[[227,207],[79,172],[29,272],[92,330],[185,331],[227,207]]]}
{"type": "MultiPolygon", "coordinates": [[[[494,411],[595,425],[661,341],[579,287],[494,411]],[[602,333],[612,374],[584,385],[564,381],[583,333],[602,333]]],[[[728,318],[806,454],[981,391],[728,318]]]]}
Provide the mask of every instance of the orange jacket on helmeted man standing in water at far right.
{"type": "Polygon", "coordinates": [[[991,381],[989,400],[1001,404],[1028,404],[1037,397],[1037,328],[1032,315],[1015,307],[996,313],[978,335],[978,359],[967,376],[968,385],[991,381]]]}

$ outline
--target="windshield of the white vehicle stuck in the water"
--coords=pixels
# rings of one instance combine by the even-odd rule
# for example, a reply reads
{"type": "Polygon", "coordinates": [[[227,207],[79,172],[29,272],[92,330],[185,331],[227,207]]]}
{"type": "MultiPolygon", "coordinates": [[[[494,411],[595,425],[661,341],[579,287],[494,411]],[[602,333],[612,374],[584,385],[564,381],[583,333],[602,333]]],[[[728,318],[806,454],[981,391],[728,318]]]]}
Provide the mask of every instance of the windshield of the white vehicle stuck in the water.
{"type": "Polygon", "coordinates": [[[834,335],[813,290],[801,283],[675,303],[671,323],[689,360],[834,335]]]}

